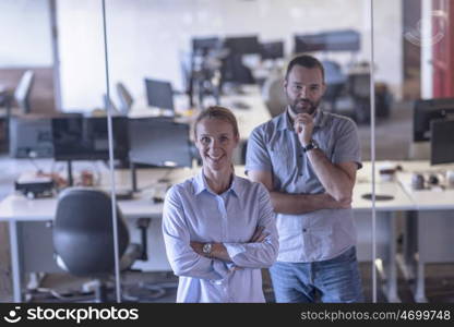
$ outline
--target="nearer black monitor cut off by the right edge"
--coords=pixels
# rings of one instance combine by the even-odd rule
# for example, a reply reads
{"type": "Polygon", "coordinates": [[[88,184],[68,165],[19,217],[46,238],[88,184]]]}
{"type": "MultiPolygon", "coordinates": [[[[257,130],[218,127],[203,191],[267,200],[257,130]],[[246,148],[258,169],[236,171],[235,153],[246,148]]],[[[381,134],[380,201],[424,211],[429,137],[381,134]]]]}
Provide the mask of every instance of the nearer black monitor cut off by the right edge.
{"type": "Polygon", "coordinates": [[[432,120],[430,164],[454,162],[454,120],[432,120]]]}

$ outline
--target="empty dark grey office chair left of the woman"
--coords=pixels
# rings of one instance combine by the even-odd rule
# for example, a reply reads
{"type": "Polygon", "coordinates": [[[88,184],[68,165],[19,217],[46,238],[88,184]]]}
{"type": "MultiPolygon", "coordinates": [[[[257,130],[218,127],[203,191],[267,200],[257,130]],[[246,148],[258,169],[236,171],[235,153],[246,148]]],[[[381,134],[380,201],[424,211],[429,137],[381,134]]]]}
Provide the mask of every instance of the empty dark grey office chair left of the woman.
{"type": "MultiPolygon", "coordinates": [[[[117,219],[120,269],[126,270],[144,256],[144,251],[141,244],[130,243],[119,208],[117,219]]],[[[88,187],[64,190],[58,198],[52,238],[57,264],[71,275],[95,278],[95,301],[108,300],[106,282],[115,270],[109,195],[88,187]]],[[[158,292],[162,294],[164,291],[158,292]]],[[[150,294],[150,298],[155,299],[155,295],[150,294]]],[[[131,300],[131,296],[124,292],[123,299],[131,300]]]]}

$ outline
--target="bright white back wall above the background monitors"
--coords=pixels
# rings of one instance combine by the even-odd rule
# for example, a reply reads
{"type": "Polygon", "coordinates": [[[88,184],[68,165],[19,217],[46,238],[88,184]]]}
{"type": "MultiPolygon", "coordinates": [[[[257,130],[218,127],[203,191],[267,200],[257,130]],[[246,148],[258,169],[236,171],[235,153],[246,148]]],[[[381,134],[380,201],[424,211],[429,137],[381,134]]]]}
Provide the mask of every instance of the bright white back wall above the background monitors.
{"type": "MultiPolygon", "coordinates": [[[[59,1],[63,108],[101,106],[106,92],[100,1],[59,1]]],[[[374,1],[378,80],[399,95],[402,33],[399,1],[374,1]]],[[[107,1],[110,81],[122,81],[134,97],[144,94],[145,76],[170,80],[181,88],[181,58],[192,36],[259,34],[263,40],[296,33],[356,28],[362,51],[370,47],[369,1],[365,0],[110,0],[107,1]]],[[[330,56],[330,55],[327,55],[330,56]]],[[[326,57],[326,55],[325,55],[326,57]]],[[[350,53],[340,56],[351,59],[350,53]]],[[[113,97],[115,100],[115,97],[113,97]]]]}

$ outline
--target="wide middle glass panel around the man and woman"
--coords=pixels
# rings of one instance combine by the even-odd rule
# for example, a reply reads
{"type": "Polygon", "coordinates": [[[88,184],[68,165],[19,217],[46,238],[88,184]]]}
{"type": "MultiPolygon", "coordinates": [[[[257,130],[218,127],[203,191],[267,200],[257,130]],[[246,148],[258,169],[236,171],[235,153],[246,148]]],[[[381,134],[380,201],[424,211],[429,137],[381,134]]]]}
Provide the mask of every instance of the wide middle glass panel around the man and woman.
{"type": "MultiPolygon", "coordinates": [[[[253,129],[286,109],[287,63],[297,53],[312,55],[325,70],[321,108],[356,123],[362,160],[370,160],[371,9],[368,1],[347,2],[107,1],[110,95],[129,118],[132,167],[116,170],[124,177],[117,187],[132,184],[134,201],[146,203],[143,213],[126,215],[131,239],[146,246],[145,259],[133,268],[142,270],[135,278],[145,287],[166,291],[150,300],[153,292],[142,290],[145,301],[176,300],[178,279],[166,256],[159,208],[172,184],[201,170],[191,145],[192,122],[210,106],[224,106],[236,116],[240,146],[232,160],[236,174],[246,177],[253,129]],[[169,282],[174,288],[166,288],[169,282]]],[[[368,168],[358,172],[365,193],[371,192],[368,173],[368,168]]],[[[353,206],[363,293],[372,301],[371,206],[360,199],[353,206]]],[[[267,269],[262,272],[266,301],[273,302],[272,280],[267,269]]],[[[128,274],[121,279],[124,294],[139,292],[128,283],[128,274]]]]}

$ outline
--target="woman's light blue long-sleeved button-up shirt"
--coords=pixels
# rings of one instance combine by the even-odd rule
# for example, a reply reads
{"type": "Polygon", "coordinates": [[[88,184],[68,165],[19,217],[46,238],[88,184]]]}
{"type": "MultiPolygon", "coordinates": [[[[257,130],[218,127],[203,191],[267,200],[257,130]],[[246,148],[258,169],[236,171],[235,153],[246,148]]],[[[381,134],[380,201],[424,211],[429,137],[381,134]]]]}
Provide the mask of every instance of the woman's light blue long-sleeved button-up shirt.
{"type": "Polygon", "coordinates": [[[218,195],[200,172],[167,192],[163,233],[170,266],[180,277],[177,302],[265,302],[260,268],[275,262],[278,241],[262,184],[234,174],[230,187],[218,195]],[[259,226],[265,227],[266,239],[249,243],[259,226]],[[223,243],[231,262],[199,255],[190,241],[223,243]]]}

